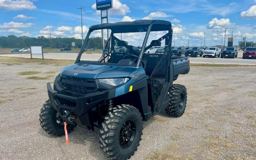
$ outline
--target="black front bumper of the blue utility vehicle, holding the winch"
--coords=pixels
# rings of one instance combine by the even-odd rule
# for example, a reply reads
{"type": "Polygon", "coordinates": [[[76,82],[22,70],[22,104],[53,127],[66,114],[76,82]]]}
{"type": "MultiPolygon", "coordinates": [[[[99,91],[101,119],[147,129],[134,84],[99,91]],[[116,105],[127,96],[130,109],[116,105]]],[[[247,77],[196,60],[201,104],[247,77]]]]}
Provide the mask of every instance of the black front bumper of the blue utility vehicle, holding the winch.
{"type": "Polygon", "coordinates": [[[94,126],[93,115],[90,114],[92,110],[104,100],[115,97],[115,89],[88,93],[84,97],[67,96],[53,90],[50,83],[47,83],[47,91],[50,103],[55,110],[61,115],[63,115],[64,111],[71,111],[70,117],[74,118],[74,121],[69,121],[70,118],[68,118],[69,123],[80,127],[90,126],[92,129],[94,126]]]}

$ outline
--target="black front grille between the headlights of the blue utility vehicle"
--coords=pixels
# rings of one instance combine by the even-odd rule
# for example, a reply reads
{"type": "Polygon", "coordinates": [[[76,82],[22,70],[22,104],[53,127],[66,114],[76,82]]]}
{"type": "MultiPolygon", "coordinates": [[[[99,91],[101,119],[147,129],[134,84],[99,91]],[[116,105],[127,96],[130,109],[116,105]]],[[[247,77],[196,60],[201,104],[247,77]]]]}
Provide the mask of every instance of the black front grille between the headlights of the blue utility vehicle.
{"type": "Polygon", "coordinates": [[[65,87],[66,91],[72,93],[86,94],[97,90],[95,81],[92,79],[62,75],[60,82],[65,87]]]}

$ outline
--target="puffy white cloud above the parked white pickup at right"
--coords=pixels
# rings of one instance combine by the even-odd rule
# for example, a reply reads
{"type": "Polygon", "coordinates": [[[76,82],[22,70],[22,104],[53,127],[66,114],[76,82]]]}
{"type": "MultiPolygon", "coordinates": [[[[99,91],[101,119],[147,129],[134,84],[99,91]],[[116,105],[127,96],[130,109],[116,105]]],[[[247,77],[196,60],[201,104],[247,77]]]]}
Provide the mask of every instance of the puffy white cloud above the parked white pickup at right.
{"type": "Polygon", "coordinates": [[[234,26],[234,25],[235,24],[232,24],[228,18],[227,19],[224,19],[224,18],[221,18],[221,19],[214,18],[214,19],[212,19],[208,23],[206,28],[207,29],[222,29],[224,27],[231,27],[231,26],[234,26]]]}

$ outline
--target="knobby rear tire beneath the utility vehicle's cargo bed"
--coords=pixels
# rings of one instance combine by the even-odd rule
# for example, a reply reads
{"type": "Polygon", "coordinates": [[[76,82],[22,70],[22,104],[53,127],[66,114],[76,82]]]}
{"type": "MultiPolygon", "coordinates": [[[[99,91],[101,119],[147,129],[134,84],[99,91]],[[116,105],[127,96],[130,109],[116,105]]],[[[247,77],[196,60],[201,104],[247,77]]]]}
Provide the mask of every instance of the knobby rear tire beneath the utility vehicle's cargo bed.
{"type": "Polygon", "coordinates": [[[185,111],[187,104],[187,89],[183,85],[173,84],[170,92],[170,101],[165,109],[167,115],[180,117],[185,111]]]}

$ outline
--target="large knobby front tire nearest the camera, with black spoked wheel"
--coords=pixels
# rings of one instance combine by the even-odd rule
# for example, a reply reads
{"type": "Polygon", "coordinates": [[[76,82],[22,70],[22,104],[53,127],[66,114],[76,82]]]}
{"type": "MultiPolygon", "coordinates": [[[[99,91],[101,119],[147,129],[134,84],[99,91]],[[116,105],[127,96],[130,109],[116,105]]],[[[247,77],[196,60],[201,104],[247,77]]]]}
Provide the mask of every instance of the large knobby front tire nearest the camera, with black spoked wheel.
{"type": "Polygon", "coordinates": [[[104,154],[111,160],[129,159],[140,145],[142,124],[140,112],[132,105],[110,108],[99,131],[104,154]]]}

